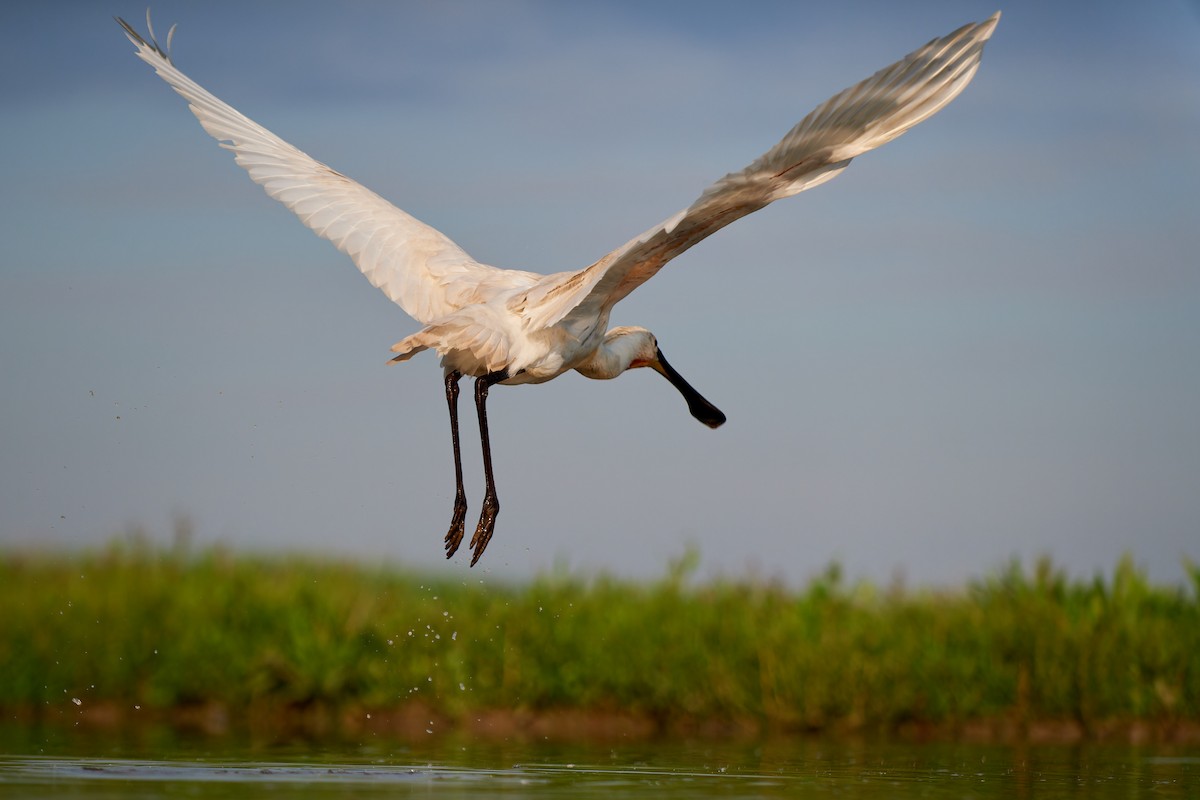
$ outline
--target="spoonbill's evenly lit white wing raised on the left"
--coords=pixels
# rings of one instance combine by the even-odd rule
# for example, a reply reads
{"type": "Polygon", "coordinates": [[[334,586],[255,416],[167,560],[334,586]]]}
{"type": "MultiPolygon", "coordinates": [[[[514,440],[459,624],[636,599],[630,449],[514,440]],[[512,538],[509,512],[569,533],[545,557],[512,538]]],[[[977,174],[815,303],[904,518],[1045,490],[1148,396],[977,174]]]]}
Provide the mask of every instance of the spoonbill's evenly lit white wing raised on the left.
{"type": "MultiPolygon", "coordinates": [[[[479,300],[490,284],[536,277],[480,264],[440,231],[330,169],[209,94],[172,62],[154,38],[116,19],[137,55],[182,95],[204,130],[256,184],[288,206],[317,235],[350,257],[362,275],[421,323],[479,300]]],[[[146,12],[149,28],[150,16],[146,12]]],[[[170,43],[174,28],[167,37],[170,43]]]]}

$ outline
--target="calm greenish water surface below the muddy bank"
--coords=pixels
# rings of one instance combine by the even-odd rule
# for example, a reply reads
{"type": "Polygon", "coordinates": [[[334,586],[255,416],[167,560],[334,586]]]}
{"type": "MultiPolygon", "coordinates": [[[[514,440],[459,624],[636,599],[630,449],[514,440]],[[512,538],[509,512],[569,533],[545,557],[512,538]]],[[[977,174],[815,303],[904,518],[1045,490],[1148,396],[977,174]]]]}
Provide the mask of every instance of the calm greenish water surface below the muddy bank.
{"type": "Polygon", "coordinates": [[[188,739],[0,728],[20,798],[1200,798],[1200,746],[188,739]]]}

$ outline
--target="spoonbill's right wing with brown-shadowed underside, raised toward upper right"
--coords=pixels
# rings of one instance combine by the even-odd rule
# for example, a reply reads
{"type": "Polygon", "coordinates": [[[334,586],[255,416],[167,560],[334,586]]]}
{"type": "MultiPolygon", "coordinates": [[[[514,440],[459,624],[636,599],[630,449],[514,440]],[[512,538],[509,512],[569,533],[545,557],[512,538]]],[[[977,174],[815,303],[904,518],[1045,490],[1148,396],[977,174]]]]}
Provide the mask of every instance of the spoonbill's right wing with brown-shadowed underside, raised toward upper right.
{"type": "Polygon", "coordinates": [[[550,276],[516,297],[527,325],[548,327],[572,312],[611,308],[701,239],[773,200],[836,176],[850,160],[890,142],[937,113],[974,77],[1000,12],[936,38],[800,120],[739,173],[713,184],[689,207],[575,273],[550,276]]]}

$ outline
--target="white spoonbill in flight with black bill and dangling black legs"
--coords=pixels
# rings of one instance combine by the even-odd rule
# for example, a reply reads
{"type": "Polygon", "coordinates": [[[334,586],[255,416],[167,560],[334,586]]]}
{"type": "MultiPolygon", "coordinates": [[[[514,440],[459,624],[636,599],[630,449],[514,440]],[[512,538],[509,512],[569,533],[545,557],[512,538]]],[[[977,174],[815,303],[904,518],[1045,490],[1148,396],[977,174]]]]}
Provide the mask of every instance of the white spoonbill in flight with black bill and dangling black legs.
{"type": "Polygon", "coordinates": [[[676,372],[644,327],[608,330],[612,307],[664,264],[700,240],[768,203],[828,181],[850,161],[896,138],[961,92],[979,67],[983,46],[1000,20],[964,25],[817,106],[774,148],[720,179],[683,211],[582,270],[540,275],[481,264],[440,231],[374,192],[308,157],[217,100],[175,67],[158,46],[116,18],[137,55],[182,95],[200,125],[266,193],[318,236],[350,257],[368,281],[425,325],[395,345],[392,361],[432,349],[442,359],[456,493],[446,558],[462,542],[467,497],[458,447],[458,380],[475,379],[484,451],[485,497],[470,540],[474,566],[496,528],[499,501],[492,477],[487,391],[494,384],[539,384],[575,369],[616,378],[649,367],[683,395],[691,415],[710,428],[721,414],[676,372]]]}

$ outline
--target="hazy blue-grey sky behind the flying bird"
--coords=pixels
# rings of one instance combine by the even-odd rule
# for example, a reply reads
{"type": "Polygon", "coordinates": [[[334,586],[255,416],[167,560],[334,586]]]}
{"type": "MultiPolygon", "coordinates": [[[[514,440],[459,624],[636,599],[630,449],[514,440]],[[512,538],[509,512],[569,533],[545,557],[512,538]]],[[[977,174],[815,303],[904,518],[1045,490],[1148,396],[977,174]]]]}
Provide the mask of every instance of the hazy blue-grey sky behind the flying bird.
{"type": "MultiPolygon", "coordinates": [[[[1200,12],[1002,5],[976,82],[624,301],[649,371],[499,387],[464,577],[553,565],[956,583],[1200,559],[1200,12]]],[[[476,258],[584,266],[988,2],[155,2],[180,67],[476,258]]],[[[132,54],[118,1],[0,10],[0,543],[438,566],[416,330],[132,54]]],[[[469,404],[463,407],[472,431],[469,404]]],[[[472,511],[478,443],[464,437],[472,511]]]]}

